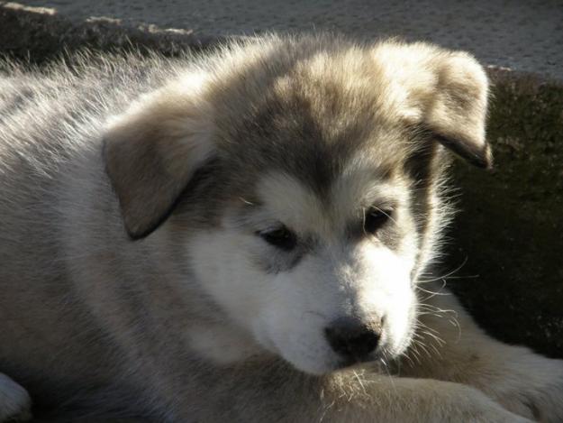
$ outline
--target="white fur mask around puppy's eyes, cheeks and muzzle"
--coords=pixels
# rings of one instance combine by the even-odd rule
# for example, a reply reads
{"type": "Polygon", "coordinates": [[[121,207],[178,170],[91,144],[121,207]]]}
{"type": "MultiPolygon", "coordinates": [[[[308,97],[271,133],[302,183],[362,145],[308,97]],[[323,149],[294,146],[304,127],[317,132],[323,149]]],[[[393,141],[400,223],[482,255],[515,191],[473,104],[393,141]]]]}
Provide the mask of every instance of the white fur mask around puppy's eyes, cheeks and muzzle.
{"type": "Polygon", "coordinates": [[[259,206],[242,219],[231,210],[221,229],[197,234],[188,246],[202,287],[234,324],[304,372],[330,372],[342,362],[325,335],[340,317],[383,319],[379,347],[386,354],[401,354],[410,342],[416,234],[408,190],[355,166],[335,181],[328,201],[285,174],[268,175],[257,187],[259,206]],[[397,245],[350,236],[365,207],[386,204],[394,207],[389,225],[401,226],[397,245]],[[297,264],[268,271],[269,262],[292,252],[277,251],[256,232],[279,224],[314,241],[297,264]]]}

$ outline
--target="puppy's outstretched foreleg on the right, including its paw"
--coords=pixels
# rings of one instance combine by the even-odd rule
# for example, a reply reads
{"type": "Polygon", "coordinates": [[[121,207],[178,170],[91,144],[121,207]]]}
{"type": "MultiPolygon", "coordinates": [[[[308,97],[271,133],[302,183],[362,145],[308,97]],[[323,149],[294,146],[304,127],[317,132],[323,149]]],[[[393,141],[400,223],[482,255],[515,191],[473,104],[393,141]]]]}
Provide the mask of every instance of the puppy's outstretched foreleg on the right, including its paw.
{"type": "Polygon", "coordinates": [[[452,294],[429,290],[438,293],[422,301],[402,374],[468,384],[522,416],[563,421],[562,360],[486,336],[452,294]]]}

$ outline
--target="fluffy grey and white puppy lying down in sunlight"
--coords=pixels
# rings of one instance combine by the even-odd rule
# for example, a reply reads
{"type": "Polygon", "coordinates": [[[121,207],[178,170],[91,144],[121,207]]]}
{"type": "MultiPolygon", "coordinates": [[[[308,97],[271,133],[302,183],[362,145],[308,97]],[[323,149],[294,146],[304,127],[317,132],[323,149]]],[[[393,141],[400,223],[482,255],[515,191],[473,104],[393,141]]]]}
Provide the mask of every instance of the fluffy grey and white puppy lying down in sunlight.
{"type": "Polygon", "coordinates": [[[422,284],[450,152],[491,164],[468,54],[266,36],[4,67],[0,420],[31,398],[57,421],[563,421],[561,361],[422,284]]]}

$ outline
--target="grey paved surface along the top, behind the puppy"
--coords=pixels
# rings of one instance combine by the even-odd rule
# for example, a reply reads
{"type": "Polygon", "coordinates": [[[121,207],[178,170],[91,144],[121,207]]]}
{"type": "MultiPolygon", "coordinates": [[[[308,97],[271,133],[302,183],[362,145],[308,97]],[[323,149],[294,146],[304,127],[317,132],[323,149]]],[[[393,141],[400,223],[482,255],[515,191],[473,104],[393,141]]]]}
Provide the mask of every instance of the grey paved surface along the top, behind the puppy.
{"type": "Polygon", "coordinates": [[[399,35],[472,51],[486,64],[563,80],[561,0],[28,0],[93,16],[219,36],[313,29],[359,39],[399,35]]]}

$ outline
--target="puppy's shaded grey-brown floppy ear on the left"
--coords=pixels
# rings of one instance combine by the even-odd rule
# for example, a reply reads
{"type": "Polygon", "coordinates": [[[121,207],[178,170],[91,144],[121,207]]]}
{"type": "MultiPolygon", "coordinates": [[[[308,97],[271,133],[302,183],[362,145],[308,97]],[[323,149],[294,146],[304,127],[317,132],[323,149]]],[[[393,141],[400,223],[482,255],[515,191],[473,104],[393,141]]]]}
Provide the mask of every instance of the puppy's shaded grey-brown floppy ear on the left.
{"type": "Polygon", "coordinates": [[[104,161],[132,239],[163,223],[183,189],[213,156],[201,81],[141,97],[104,133],[104,161]]]}

